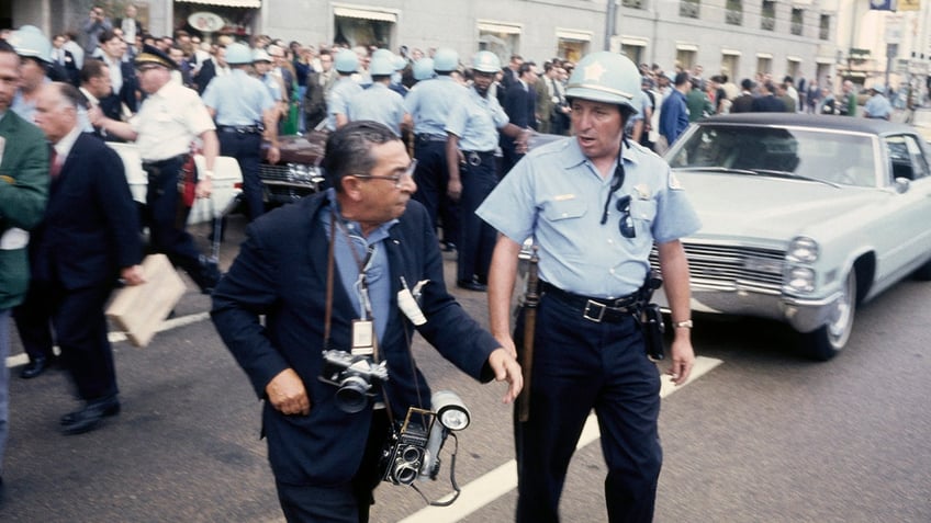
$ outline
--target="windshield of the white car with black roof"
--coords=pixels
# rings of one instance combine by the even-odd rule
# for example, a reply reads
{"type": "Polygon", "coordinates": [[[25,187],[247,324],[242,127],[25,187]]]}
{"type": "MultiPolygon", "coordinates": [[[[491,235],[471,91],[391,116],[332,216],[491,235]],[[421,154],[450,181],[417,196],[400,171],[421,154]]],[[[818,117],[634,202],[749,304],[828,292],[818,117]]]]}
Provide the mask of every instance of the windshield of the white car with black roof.
{"type": "Polygon", "coordinates": [[[738,175],[778,175],[875,186],[866,135],[783,127],[700,125],[670,151],[670,166],[738,175]]]}

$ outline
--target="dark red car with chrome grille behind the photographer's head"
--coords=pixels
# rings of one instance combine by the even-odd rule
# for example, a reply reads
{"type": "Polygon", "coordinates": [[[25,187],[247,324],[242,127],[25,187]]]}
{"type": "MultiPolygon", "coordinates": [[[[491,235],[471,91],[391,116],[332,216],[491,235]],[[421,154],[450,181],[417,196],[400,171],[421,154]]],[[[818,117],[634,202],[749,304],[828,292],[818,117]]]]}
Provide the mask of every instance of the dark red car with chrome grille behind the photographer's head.
{"type": "Polygon", "coordinates": [[[326,137],[325,130],[279,137],[281,159],[278,163],[262,160],[259,168],[267,206],[291,203],[323,189],[319,163],[326,150],[326,137]]]}

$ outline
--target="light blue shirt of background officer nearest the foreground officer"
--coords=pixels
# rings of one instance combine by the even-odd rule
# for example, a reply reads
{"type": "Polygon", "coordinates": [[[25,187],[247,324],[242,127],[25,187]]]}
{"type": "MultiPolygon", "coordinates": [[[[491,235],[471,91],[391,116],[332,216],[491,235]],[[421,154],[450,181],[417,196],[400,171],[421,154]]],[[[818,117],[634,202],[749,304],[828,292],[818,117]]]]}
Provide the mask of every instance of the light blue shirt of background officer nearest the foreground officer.
{"type": "Polygon", "coordinates": [[[459,137],[461,150],[489,152],[497,148],[497,129],[508,122],[497,98],[482,96],[472,88],[463,103],[452,107],[446,132],[459,137]]]}

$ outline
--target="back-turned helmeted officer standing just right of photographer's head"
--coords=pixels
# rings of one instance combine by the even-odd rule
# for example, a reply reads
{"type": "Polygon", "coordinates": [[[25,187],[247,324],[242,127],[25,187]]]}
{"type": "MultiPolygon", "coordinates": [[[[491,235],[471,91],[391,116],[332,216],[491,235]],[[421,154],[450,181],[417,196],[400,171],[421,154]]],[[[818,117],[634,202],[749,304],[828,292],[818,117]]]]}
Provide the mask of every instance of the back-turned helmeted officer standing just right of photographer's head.
{"type": "Polygon", "coordinates": [[[440,47],[434,58],[420,58],[414,64],[414,76],[419,81],[404,98],[404,105],[414,118],[414,157],[417,170],[414,180],[417,192],[414,200],[427,208],[437,226],[442,220],[442,237],[448,248],[459,243],[459,211],[456,201],[447,194],[449,168],[446,163],[446,121],[452,109],[467,96],[451,73],[459,67],[459,54],[440,47]],[[433,66],[431,69],[428,69],[433,66]],[[433,77],[436,77],[431,79],[433,77]]]}

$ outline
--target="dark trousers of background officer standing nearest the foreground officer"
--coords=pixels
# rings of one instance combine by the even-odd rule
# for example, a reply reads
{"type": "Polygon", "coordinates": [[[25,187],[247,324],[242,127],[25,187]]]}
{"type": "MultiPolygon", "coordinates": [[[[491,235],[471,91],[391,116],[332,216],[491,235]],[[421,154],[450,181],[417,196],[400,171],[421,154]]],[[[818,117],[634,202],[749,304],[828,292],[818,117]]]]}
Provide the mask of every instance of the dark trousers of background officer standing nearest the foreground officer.
{"type": "Polygon", "coordinates": [[[458,281],[470,282],[478,276],[484,283],[489,277],[497,232],[475,214],[495,185],[494,152],[463,151],[466,163],[459,166],[462,197],[459,201],[461,227],[459,228],[458,281]]]}

